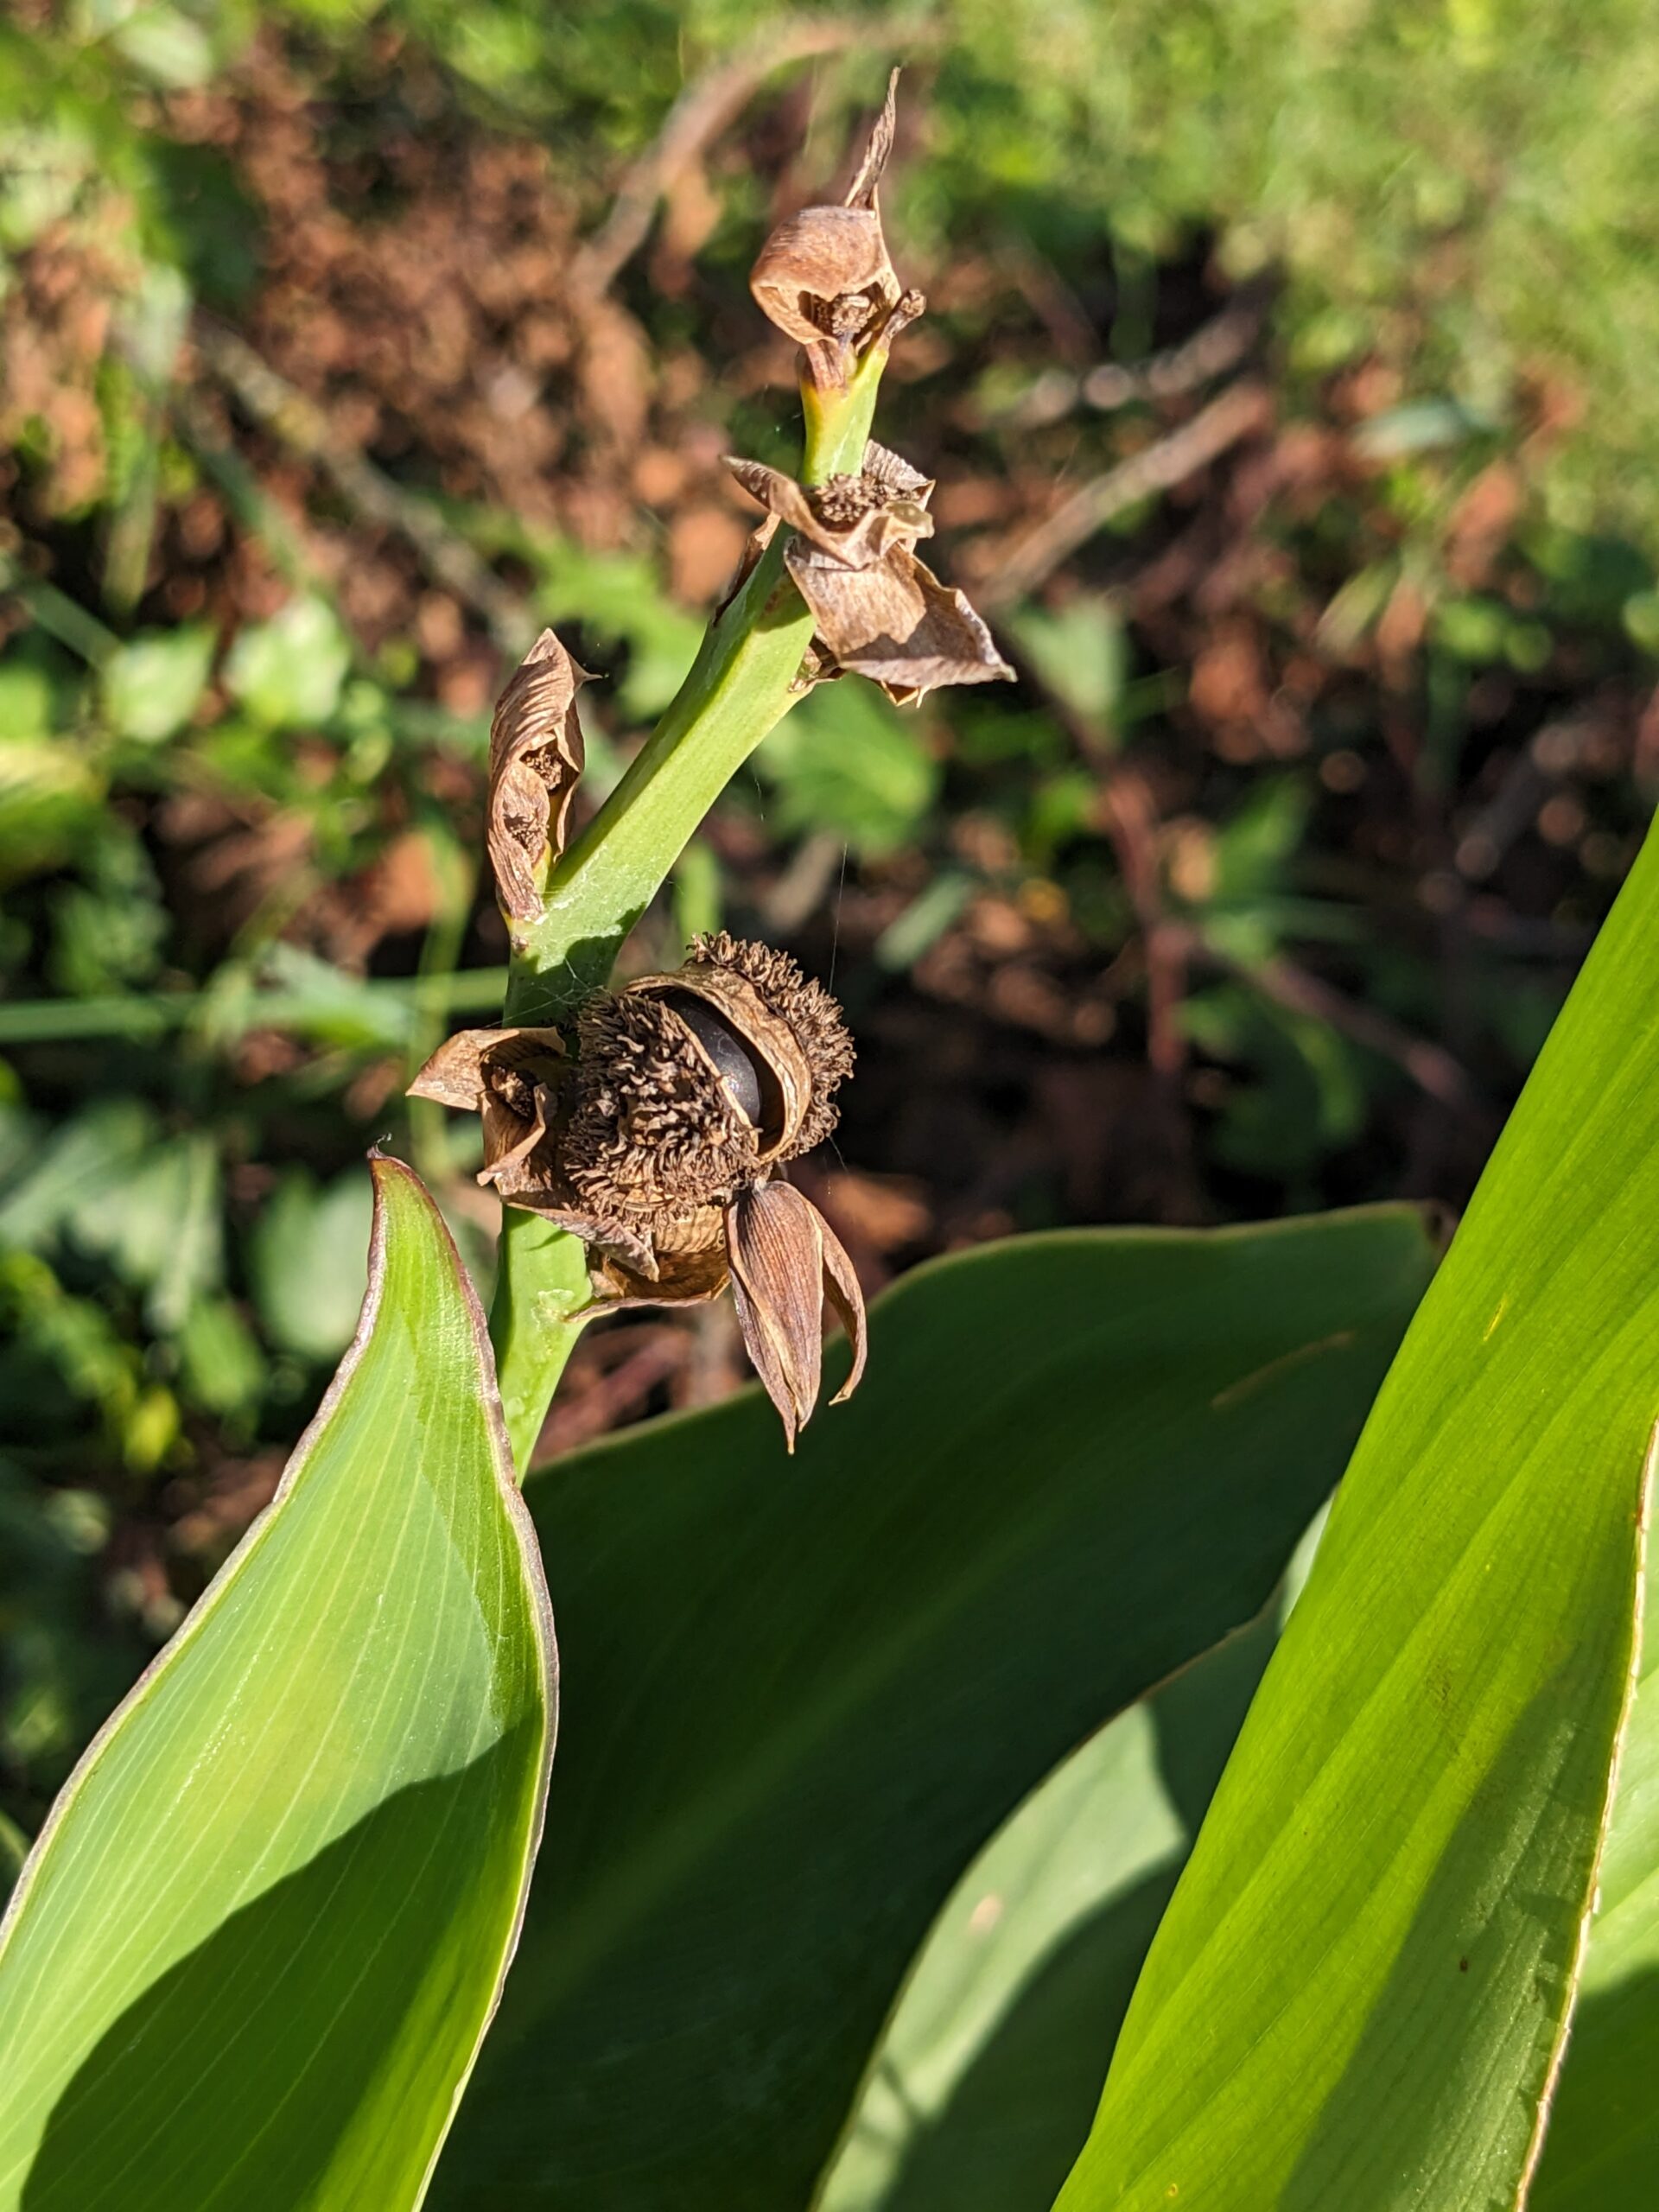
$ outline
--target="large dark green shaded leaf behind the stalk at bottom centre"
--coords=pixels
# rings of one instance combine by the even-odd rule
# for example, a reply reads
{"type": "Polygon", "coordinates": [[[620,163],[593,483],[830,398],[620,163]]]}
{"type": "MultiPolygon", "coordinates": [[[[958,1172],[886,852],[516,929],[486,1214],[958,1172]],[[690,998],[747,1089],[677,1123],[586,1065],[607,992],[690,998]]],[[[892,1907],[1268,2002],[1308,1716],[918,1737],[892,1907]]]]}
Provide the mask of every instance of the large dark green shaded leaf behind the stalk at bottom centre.
{"type": "Polygon", "coordinates": [[[434,2203],[805,2205],[951,1885],[1263,1604],[1427,1267],[1405,1210],[1022,1239],[878,1301],[794,1462],[745,1394],[533,1478],[557,1818],[434,2203]]]}

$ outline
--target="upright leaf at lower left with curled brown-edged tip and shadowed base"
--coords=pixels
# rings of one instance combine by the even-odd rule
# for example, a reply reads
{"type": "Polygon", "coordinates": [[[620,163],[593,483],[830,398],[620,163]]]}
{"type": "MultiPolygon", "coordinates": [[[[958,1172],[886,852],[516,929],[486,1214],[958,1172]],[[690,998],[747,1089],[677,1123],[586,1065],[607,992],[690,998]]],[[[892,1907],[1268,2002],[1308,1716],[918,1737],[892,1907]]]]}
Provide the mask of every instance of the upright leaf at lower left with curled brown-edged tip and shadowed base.
{"type": "Polygon", "coordinates": [[[553,1641],[482,1316],[376,1161],[363,1325],[0,1936],[0,2205],[398,2212],[513,1949],[553,1641]]]}

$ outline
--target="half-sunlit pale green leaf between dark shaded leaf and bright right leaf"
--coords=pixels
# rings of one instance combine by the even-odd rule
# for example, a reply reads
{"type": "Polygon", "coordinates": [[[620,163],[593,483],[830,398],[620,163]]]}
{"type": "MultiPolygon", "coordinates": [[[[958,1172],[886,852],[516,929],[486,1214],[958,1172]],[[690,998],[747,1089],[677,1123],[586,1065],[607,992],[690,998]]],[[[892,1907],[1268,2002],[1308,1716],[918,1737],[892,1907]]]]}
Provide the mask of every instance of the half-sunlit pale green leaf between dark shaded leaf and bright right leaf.
{"type": "Polygon", "coordinates": [[[1082,1743],[951,1891],[814,2212],[1048,2212],[1261,1670],[1307,1579],[1082,1743]]]}

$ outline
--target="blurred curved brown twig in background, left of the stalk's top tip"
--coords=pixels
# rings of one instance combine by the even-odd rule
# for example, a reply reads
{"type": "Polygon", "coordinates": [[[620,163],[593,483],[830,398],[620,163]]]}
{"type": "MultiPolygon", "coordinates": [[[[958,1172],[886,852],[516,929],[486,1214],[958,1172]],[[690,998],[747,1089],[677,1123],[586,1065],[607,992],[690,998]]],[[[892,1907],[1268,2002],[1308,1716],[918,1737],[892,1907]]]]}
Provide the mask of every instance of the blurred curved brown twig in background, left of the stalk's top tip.
{"type": "Polygon", "coordinates": [[[568,296],[580,312],[602,299],[650,237],[661,199],[750,104],[779,69],[843,53],[869,35],[863,22],[785,18],[714,62],[675,100],[653,144],[633,161],[611,212],[571,261],[568,296]]]}

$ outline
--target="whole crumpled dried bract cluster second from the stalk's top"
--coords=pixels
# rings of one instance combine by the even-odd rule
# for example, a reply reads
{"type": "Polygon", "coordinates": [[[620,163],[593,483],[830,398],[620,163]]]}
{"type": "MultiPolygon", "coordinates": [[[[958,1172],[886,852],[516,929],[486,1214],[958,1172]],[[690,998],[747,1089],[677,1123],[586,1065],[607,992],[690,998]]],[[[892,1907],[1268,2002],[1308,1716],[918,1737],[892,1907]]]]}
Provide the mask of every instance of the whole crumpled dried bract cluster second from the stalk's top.
{"type": "Polygon", "coordinates": [[[933,484],[898,453],[872,440],[858,476],[812,487],[754,460],[728,469],[796,533],[783,560],[816,622],[812,679],[872,677],[909,706],[940,684],[1013,677],[967,597],[916,557],[933,484]]]}

